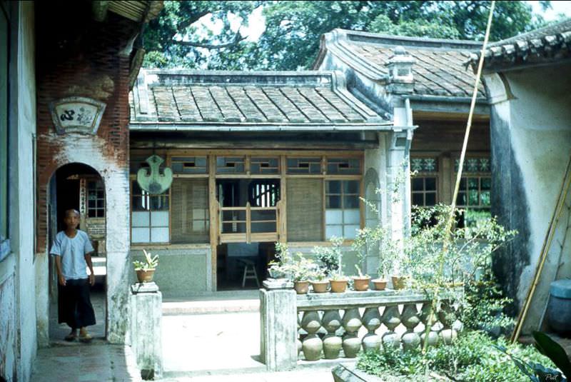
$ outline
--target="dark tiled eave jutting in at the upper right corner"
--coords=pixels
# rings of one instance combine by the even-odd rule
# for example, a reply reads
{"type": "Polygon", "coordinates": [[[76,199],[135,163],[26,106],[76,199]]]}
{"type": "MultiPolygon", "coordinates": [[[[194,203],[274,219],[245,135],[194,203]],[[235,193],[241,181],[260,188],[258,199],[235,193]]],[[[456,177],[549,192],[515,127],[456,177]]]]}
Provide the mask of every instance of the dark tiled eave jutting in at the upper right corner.
{"type": "MultiPolygon", "coordinates": [[[[484,67],[487,70],[519,64],[560,61],[571,57],[571,19],[535,29],[525,34],[497,41],[487,46],[484,67]]],[[[480,52],[470,56],[477,67],[480,52]]]]}

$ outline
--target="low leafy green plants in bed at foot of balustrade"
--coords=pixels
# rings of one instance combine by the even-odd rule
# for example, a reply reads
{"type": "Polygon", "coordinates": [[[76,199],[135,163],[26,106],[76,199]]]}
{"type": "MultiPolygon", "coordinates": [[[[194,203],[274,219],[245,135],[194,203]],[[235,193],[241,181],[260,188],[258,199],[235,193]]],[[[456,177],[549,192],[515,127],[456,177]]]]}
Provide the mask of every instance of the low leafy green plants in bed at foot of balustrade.
{"type": "Polygon", "coordinates": [[[508,345],[505,339],[493,339],[480,331],[468,331],[451,345],[421,351],[393,349],[361,353],[357,366],[376,376],[407,376],[408,380],[430,381],[430,376],[446,376],[451,381],[525,382],[517,366],[495,346],[505,347],[513,356],[528,362],[552,365],[532,346],[508,345]],[[412,378],[411,378],[412,377],[412,378]]]}

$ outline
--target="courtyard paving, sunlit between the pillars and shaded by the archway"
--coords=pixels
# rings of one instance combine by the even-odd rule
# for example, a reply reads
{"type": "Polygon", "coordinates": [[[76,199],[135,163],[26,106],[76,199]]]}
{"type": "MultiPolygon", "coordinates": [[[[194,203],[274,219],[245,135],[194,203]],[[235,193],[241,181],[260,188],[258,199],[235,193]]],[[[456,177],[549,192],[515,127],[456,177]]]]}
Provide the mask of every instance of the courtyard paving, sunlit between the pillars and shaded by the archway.
{"type": "MultiPolygon", "coordinates": [[[[32,382],[142,381],[131,348],[104,341],[104,294],[91,294],[94,341],[67,343],[69,329],[51,319],[51,347],[38,352],[32,382]]],[[[52,312],[56,313],[56,306],[52,312]]],[[[260,361],[258,291],[201,294],[163,301],[163,382],[333,381],[329,363],[268,373],[260,361]]]]}

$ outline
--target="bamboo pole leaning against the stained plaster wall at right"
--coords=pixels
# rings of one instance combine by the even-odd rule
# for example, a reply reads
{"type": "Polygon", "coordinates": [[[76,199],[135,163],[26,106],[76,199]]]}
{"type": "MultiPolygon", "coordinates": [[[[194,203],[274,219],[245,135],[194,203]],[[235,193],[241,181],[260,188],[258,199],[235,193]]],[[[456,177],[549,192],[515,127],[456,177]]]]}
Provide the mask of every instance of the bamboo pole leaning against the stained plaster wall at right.
{"type": "Polygon", "coordinates": [[[512,343],[515,343],[517,341],[517,338],[520,338],[520,333],[523,328],[523,323],[525,322],[525,318],[527,317],[527,311],[530,308],[533,295],[535,294],[535,288],[537,288],[537,284],[539,284],[540,282],[543,266],[545,265],[545,260],[547,260],[547,254],[550,251],[553,236],[555,236],[555,228],[557,228],[557,223],[559,222],[559,218],[561,217],[561,213],[563,211],[563,206],[565,205],[565,198],[567,198],[567,192],[569,191],[569,188],[571,186],[570,171],[571,171],[571,157],[569,158],[569,162],[567,163],[565,176],[563,176],[563,181],[559,192],[559,198],[555,203],[555,210],[553,211],[553,215],[551,217],[549,226],[547,227],[547,233],[545,233],[545,239],[543,240],[543,245],[541,247],[541,252],[540,252],[540,260],[537,263],[537,267],[535,268],[533,283],[531,284],[529,290],[527,291],[527,296],[525,297],[525,303],[523,304],[523,308],[520,311],[520,315],[517,317],[517,322],[514,331],[512,333],[512,343]]]}

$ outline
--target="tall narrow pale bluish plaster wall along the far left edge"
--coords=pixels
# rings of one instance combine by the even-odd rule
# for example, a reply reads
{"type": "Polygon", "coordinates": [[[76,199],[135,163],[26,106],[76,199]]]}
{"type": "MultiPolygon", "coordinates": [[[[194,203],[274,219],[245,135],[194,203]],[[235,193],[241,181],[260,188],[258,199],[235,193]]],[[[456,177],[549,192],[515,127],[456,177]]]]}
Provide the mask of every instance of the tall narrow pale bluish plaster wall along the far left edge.
{"type": "Polygon", "coordinates": [[[34,3],[9,4],[9,239],[0,263],[0,379],[29,381],[36,358],[34,278],[34,3]]]}

